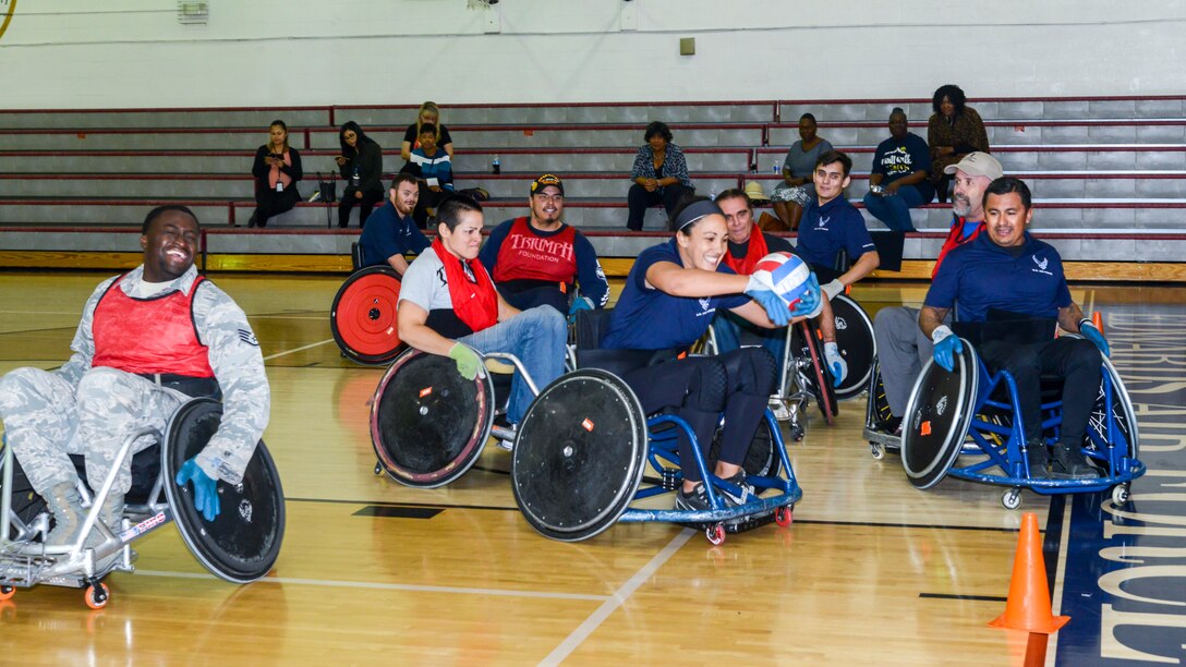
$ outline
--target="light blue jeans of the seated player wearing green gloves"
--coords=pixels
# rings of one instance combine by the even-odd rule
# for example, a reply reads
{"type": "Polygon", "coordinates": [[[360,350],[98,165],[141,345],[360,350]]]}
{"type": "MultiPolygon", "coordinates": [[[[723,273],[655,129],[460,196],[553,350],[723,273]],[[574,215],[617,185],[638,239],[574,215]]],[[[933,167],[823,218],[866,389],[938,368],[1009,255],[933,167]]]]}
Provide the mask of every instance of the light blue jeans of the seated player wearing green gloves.
{"type": "MultiPolygon", "coordinates": [[[[471,333],[458,342],[479,352],[509,352],[523,362],[531,381],[540,389],[560,377],[565,371],[565,344],[568,342],[568,324],[565,316],[551,306],[525,310],[506,322],[490,329],[471,333]]],[[[515,373],[511,380],[511,400],[506,406],[506,421],[518,424],[527,408],[535,400],[527,382],[515,373]]]]}

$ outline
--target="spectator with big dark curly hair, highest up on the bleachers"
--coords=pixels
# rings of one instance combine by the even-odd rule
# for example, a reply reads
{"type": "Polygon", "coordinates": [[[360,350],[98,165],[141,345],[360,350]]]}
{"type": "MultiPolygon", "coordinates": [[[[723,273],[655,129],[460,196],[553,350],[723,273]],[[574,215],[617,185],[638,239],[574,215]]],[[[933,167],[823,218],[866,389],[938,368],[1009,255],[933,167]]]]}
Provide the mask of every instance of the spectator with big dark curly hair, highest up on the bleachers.
{"type": "Polygon", "coordinates": [[[949,165],[968,153],[989,153],[988,132],[976,109],[968,107],[968,97],[958,85],[940,85],[931,99],[931,120],[926,123],[926,145],[931,148],[931,182],[939,203],[948,201],[951,177],[944,173],[949,165]]]}

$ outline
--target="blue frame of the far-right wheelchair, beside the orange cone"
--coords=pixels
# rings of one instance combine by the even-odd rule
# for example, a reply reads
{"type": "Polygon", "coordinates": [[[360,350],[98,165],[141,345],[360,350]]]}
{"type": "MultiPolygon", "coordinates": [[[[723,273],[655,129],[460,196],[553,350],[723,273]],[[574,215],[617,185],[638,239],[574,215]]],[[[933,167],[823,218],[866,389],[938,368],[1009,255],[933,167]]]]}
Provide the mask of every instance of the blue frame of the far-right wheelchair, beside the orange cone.
{"type": "MultiPolygon", "coordinates": [[[[1124,404],[1130,406],[1127,392],[1123,386],[1117,386],[1114,377],[1115,368],[1102,357],[1103,364],[1103,419],[1098,431],[1089,424],[1088,436],[1093,447],[1080,449],[1080,452],[1091,458],[1097,465],[1109,471],[1110,475],[1092,479],[1047,479],[1033,477],[1029,470],[1029,462],[1026,456],[1025,425],[1021,420],[1021,405],[1018,400],[1018,387],[1013,375],[1007,370],[1000,370],[995,375],[988,373],[984,362],[976,355],[976,367],[978,379],[988,377],[987,382],[977,380],[976,394],[970,406],[973,414],[970,426],[964,436],[964,443],[959,456],[986,456],[983,460],[964,466],[952,465],[948,474],[961,479],[973,482],[986,482],[989,484],[1013,487],[1002,497],[1002,504],[1008,509],[1020,506],[1020,489],[1028,488],[1038,494],[1073,494],[1083,491],[1103,491],[1114,488],[1112,497],[1120,504],[1128,500],[1128,484],[1141,477],[1146,472],[1146,466],[1136,458],[1139,442],[1137,425],[1135,419],[1128,419],[1128,433],[1121,428],[1116,420],[1115,407],[1117,407],[1117,392],[1122,392],[1124,404]],[[993,393],[1005,386],[1008,393],[1007,401],[994,400],[993,393]],[[990,421],[983,414],[986,408],[1006,411],[1012,414],[1010,425],[1005,426],[990,421]],[[968,438],[971,442],[968,442],[968,438]],[[1129,452],[1133,456],[1129,456],[1129,452]],[[999,472],[993,472],[997,470],[999,472]]],[[[1061,425],[1061,400],[1041,404],[1042,414],[1042,438],[1047,443],[1056,443],[1059,438],[1059,426],[1061,425]],[[1047,433],[1051,433],[1047,437],[1047,433]]],[[[1128,413],[1131,415],[1131,413],[1128,413]]],[[[987,417],[991,417],[990,414],[987,417]]]]}

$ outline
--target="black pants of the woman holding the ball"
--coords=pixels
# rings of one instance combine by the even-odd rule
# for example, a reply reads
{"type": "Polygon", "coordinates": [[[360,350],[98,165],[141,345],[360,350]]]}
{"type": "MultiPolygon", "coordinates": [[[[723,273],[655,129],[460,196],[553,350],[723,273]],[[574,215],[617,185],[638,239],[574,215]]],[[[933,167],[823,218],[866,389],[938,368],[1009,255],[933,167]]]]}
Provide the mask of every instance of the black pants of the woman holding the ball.
{"type": "MultiPolygon", "coordinates": [[[[723,412],[720,460],[740,465],[774,387],[774,357],[761,348],[741,348],[715,357],[648,366],[626,373],[623,380],[645,413],[669,408],[686,420],[706,459],[723,412]]],[[[684,478],[700,481],[691,443],[681,436],[678,446],[684,478]]]]}

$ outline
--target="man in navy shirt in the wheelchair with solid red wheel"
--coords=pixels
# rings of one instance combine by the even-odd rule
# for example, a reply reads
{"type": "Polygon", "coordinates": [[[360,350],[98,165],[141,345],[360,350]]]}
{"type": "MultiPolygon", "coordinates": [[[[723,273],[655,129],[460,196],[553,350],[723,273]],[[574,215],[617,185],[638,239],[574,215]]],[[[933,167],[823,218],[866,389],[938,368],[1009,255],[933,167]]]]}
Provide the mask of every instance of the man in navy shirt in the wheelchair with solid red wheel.
{"type": "Polygon", "coordinates": [[[428,239],[416,227],[412,211],[420,201],[420,185],[410,173],[397,173],[388,191],[388,202],[371,214],[358,239],[363,266],[390,266],[403,275],[408,271],[407,253],[420,254],[428,248],[428,239]]]}

